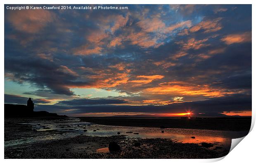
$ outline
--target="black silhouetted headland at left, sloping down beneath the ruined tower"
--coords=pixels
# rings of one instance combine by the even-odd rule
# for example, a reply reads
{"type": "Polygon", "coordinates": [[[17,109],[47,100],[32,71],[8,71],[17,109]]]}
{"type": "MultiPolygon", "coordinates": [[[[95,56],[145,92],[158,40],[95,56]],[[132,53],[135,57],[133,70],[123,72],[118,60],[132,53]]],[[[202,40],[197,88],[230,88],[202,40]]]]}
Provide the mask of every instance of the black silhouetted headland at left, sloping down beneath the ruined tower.
{"type": "Polygon", "coordinates": [[[26,105],[13,105],[5,103],[5,117],[67,117],[47,111],[31,111],[26,105]]]}

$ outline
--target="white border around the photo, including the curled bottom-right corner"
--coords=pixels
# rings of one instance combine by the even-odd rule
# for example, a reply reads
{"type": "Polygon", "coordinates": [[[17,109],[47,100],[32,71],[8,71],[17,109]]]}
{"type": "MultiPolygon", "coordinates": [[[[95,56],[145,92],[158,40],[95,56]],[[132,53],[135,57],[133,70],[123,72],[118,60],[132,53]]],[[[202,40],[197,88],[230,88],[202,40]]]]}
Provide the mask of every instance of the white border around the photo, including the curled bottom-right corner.
{"type": "MultiPolygon", "coordinates": [[[[1,82],[0,82],[0,89],[1,92],[0,93],[0,101],[3,104],[4,103],[4,4],[252,4],[252,42],[254,43],[254,38],[255,38],[255,0],[179,0],[179,1],[171,1],[171,0],[1,0],[1,59],[0,59],[0,65],[2,67],[1,69],[1,82]],[[178,2],[178,3],[177,3],[178,2]]],[[[255,44],[253,44],[252,46],[252,54],[255,53],[255,44]]],[[[252,62],[255,61],[255,57],[254,55],[252,55],[252,62]]],[[[256,82],[255,80],[255,65],[252,64],[252,92],[255,92],[255,87],[254,84],[256,82]]],[[[253,128],[254,122],[255,122],[255,103],[254,101],[256,100],[254,93],[252,94],[252,108],[253,108],[253,113],[252,113],[252,126],[251,129],[253,128]]],[[[2,154],[2,159],[4,158],[4,114],[3,114],[3,105],[1,105],[1,116],[2,116],[2,123],[1,123],[1,154],[2,154]]],[[[147,161],[149,163],[153,163],[155,161],[161,161],[162,163],[169,163],[169,161],[175,161],[175,162],[192,162],[192,163],[198,163],[198,162],[214,162],[214,161],[219,161],[221,160],[222,162],[253,162],[253,160],[255,160],[255,140],[254,138],[256,138],[256,132],[255,129],[253,131],[251,131],[247,136],[245,136],[244,140],[242,141],[242,143],[239,143],[238,147],[236,147],[235,149],[232,150],[232,152],[230,154],[228,154],[226,156],[225,159],[223,158],[214,158],[214,159],[175,159],[175,160],[170,160],[170,159],[157,159],[157,160],[153,160],[153,159],[147,159],[147,161]]],[[[27,163],[27,162],[39,162],[39,163],[44,163],[46,160],[43,159],[38,159],[38,160],[11,160],[11,159],[5,159],[4,161],[6,162],[14,162],[14,161],[19,161],[21,163],[27,163]]],[[[47,161],[50,162],[54,162],[56,160],[54,159],[48,159],[47,161]]],[[[63,161],[64,163],[68,163],[70,161],[73,161],[72,159],[62,159],[60,161],[63,161]]],[[[85,160],[83,159],[79,159],[76,160],[77,162],[85,162],[85,160]]],[[[133,159],[133,160],[128,160],[128,159],[111,159],[111,160],[107,160],[107,159],[91,159],[91,160],[86,160],[86,162],[100,162],[100,161],[104,161],[107,163],[110,162],[122,162],[122,163],[130,163],[130,162],[139,162],[139,161],[143,161],[140,159],[133,159]]]]}

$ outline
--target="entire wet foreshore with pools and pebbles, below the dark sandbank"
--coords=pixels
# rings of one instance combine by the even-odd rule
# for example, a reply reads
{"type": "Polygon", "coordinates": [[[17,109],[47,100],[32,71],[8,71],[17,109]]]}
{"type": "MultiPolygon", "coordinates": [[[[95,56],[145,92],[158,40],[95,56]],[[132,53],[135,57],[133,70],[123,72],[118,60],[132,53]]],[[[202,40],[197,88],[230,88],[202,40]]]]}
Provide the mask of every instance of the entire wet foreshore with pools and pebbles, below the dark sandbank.
{"type": "Polygon", "coordinates": [[[228,154],[232,132],[104,126],[78,118],[5,118],[5,158],[218,158],[228,154]],[[193,133],[198,133],[195,138],[193,133]],[[212,147],[203,147],[204,140],[212,147]],[[108,151],[112,141],[121,151],[108,151]]]}

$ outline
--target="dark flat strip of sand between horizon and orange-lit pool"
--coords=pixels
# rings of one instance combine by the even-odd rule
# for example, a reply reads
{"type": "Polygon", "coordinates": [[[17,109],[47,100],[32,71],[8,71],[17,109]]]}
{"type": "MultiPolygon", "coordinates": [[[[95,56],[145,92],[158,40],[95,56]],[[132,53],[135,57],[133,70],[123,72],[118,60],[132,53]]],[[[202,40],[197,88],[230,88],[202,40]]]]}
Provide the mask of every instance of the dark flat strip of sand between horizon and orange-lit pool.
{"type": "MultiPolygon", "coordinates": [[[[111,126],[160,127],[173,129],[201,129],[218,131],[248,131],[251,117],[209,117],[209,118],[168,118],[168,117],[79,117],[83,122],[111,126]]],[[[246,134],[247,135],[247,134],[246,134]]]]}

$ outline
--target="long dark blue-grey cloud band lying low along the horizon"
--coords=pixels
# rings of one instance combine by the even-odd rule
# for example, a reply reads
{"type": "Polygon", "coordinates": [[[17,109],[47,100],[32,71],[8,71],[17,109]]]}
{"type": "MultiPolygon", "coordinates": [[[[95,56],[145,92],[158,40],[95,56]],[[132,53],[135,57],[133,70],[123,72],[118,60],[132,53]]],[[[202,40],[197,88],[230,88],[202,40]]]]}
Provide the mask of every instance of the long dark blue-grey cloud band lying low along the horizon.
{"type": "MultiPolygon", "coordinates": [[[[106,99],[101,99],[99,101],[88,100],[88,102],[92,106],[83,106],[86,103],[82,102],[83,100],[78,101],[63,101],[62,104],[67,104],[69,106],[70,115],[82,114],[82,113],[96,113],[96,112],[145,112],[145,113],[180,113],[191,111],[195,115],[198,113],[205,113],[206,115],[214,116],[221,112],[230,112],[235,111],[239,112],[241,110],[249,111],[251,110],[251,98],[250,96],[244,96],[242,94],[237,96],[230,97],[219,97],[213,98],[205,101],[195,101],[195,102],[184,102],[184,103],[173,103],[166,106],[128,106],[128,105],[104,105],[106,99]],[[104,102],[102,102],[104,101],[104,102]],[[95,103],[102,104],[95,106],[95,103]]],[[[120,101],[119,101],[120,102],[120,101]]],[[[60,103],[59,103],[60,104],[60,103]]],[[[105,102],[105,104],[107,104],[105,102]]],[[[52,106],[43,106],[40,105],[36,108],[40,109],[48,109],[47,111],[55,112],[58,110],[59,112],[65,110],[65,106],[63,105],[52,105],[52,106]],[[63,110],[62,110],[63,109],[63,110]]]]}

